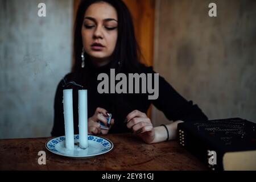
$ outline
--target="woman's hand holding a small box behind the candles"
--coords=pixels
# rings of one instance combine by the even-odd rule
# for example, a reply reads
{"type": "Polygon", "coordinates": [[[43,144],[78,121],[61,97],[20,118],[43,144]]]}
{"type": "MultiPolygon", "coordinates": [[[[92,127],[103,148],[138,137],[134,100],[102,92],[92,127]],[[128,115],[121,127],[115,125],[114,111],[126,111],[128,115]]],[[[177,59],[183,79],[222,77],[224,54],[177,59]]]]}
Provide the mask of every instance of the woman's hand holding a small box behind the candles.
{"type": "Polygon", "coordinates": [[[105,126],[108,127],[108,120],[106,119],[108,117],[109,117],[108,111],[106,111],[105,109],[102,109],[100,107],[97,107],[94,115],[88,119],[88,133],[95,134],[95,135],[108,134],[109,129],[114,125],[114,119],[111,119],[110,127],[108,130],[102,130],[101,125],[99,123],[99,121],[100,121],[100,122],[104,123],[105,126]]]}

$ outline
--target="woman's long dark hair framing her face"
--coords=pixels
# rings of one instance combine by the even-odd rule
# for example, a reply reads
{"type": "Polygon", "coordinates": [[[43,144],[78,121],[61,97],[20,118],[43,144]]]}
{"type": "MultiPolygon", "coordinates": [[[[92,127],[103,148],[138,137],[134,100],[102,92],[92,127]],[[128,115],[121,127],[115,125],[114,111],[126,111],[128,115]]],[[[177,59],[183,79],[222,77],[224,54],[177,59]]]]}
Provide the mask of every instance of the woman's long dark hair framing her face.
{"type": "MultiPolygon", "coordinates": [[[[73,42],[73,72],[81,71],[82,35],[81,28],[85,11],[90,5],[97,2],[106,2],[112,5],[118,15],[118,38],[115,46],[111,68],[115,72],[139,72],[141,51],[137,44],[131,13],[122,0],[82,0],[76,14],[73,42]],[[119,62],[119,64],[118,64],[119,62]]],[[[85,53],[85,57],[88,57],[85,53]]],[[[86,60],[85,60],[86,65],[86,60]]]]}

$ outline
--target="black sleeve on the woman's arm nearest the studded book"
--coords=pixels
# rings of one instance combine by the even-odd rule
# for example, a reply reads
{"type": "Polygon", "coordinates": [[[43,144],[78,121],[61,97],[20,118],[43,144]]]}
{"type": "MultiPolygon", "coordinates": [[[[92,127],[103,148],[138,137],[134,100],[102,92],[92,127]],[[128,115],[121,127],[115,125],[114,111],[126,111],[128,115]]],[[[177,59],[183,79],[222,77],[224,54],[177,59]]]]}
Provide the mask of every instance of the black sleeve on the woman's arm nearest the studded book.
{"type": "MultiPolygon", "coordinates": [[[[152,67],[147,68],[150,73],[155,73],[152,67]]],[[[152,104],[166,115],[170,121],[181,120],[205,121],[207,116],[201,109],[193,104],[193,101],[187,101],[162,77],[159,75],[159,97],[152,100],[152,104]]]]}

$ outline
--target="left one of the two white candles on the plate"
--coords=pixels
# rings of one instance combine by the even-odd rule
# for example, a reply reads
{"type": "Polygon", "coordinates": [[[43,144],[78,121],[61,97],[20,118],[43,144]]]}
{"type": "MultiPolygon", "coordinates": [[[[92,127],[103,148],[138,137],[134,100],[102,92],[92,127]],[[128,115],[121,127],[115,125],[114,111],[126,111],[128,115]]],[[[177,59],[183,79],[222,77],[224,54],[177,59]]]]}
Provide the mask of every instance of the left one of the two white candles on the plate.
{"type": "Polygon", "coordinates": [[[63,90],[63,106],[65,121],[65,147],[74,149],[74,122],[73,122],[73,90],[63,90]]]}

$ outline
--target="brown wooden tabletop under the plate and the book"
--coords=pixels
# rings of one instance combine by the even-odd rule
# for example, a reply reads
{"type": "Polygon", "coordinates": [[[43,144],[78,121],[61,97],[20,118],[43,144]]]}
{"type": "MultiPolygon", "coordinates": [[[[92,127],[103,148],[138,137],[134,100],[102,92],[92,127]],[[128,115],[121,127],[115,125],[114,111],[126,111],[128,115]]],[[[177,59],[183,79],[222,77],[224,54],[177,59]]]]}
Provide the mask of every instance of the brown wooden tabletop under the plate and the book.
{"type": "Polygon", "coordinates": [[[107,154],[89,159],[70,159],[49,152],[50,138],[1,139],[0,170],[207,170],[176,141],[145,144],[133,134],[105,135],[114,143],[107,154]],[[39,151],[46,151],[46,165],[39,165],[39,151]]]}

